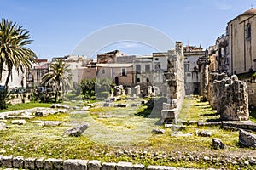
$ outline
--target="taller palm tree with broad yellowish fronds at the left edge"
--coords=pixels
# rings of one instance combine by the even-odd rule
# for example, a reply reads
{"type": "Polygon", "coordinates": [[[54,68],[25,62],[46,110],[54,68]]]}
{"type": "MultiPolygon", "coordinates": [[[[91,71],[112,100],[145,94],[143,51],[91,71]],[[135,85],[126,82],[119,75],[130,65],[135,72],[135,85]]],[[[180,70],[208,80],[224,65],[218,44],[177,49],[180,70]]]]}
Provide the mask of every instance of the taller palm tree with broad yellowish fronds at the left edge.
{"type": "Polygon", "coordinates": [[[37,59],[36,54],[26,45],[31,44],[29,31],[12,21],[2,19],[0,23],[0,81],[2,81],[3,65],[7,66],[7,77],[4,89],[7,90],[12,70],[24,73],[37,59]]]}

